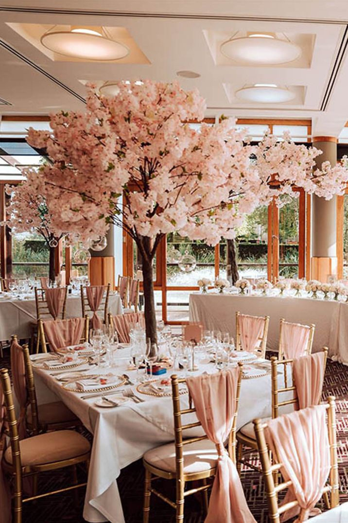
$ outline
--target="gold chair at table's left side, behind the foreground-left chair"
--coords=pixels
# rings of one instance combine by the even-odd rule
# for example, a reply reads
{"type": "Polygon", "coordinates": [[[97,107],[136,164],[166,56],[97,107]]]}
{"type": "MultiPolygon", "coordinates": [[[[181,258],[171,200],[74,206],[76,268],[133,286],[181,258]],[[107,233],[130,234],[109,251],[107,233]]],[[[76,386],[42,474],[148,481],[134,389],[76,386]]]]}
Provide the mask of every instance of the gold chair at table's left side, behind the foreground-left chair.
{"type": "Polygon", "coordinates": [[[26,425],[29,433],[36,436],[49,430],[81,426],[80,419],[62,401],[43,403],[38,406],[28,345],[23,345],[22,350],[29,402],[26,413],[26,425]]]}

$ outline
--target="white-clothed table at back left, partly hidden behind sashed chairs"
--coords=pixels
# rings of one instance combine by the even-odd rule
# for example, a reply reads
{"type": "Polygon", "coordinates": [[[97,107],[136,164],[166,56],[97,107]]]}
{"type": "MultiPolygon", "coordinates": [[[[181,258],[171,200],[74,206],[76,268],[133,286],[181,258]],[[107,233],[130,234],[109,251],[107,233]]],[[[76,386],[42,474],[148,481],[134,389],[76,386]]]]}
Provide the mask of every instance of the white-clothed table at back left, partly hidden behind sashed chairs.
{"type": "MultiPolygon", "coordinates": [[[[122,303],[118,294],[109,296],[109,312],[122,314],[122,303]]],[[[66,318],[82,315],[81,295],[68,295],[66,299],[66,318]]],[[[35,298],[0,300],[0,339],[9,339],[12,334],[18,338],[31,336],[31,323],[36,321],[35,298]]]]}

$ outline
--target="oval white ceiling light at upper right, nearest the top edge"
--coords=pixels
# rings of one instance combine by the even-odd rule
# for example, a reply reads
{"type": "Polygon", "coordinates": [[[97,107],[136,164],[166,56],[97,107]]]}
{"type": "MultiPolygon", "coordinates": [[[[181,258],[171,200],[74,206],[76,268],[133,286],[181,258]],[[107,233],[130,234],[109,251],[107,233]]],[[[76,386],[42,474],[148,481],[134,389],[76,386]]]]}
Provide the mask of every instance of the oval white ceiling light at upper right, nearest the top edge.
{"type": "Polygon", "coordinates": [[[252,33],[246,37],[223,42],[221,53],[240,64],[277,65],[292,62],[301,56],[297,44],[280,40],[270,33],[252,33]]]}

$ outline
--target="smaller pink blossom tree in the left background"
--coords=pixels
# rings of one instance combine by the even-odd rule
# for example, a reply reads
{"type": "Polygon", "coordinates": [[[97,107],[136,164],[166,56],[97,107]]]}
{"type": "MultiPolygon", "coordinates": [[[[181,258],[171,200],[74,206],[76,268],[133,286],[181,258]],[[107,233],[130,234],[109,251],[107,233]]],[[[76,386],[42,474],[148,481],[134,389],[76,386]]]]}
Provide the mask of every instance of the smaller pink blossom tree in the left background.
{"type": "Polygon", "coordinates": [[[8,218],[3,225],[8,225],[15,233],[37,232],[44,238],[49,248],[49,278],[54,281],[54,250],[64,234],[57,228],[54,232],[52,230],[50,187],[43,176],[43,168],[27,169],[23,174],[26,176],[25,181],[6,186],[6,192],[11,198],[7,208],[8,218]]]}

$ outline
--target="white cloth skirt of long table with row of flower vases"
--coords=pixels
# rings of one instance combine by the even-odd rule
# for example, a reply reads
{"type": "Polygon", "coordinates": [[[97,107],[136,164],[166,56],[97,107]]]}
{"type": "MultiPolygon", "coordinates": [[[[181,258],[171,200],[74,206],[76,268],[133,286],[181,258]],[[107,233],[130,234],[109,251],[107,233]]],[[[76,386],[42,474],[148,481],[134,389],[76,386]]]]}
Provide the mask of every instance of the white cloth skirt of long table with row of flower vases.
{"type": "Polygon", "coordinates": [[[190,294],[189,319],[202,322],[204,328],[235,335],[235,313],[270,316],[267,348],[278,350],[280,318],[309,325],[315,324],[313,352],[329,347],[329,356],[348,365],[348,304],[313,300],[239,294],[190,294]]]}

